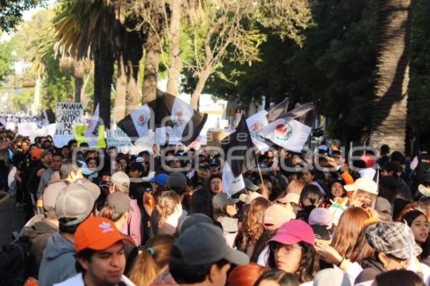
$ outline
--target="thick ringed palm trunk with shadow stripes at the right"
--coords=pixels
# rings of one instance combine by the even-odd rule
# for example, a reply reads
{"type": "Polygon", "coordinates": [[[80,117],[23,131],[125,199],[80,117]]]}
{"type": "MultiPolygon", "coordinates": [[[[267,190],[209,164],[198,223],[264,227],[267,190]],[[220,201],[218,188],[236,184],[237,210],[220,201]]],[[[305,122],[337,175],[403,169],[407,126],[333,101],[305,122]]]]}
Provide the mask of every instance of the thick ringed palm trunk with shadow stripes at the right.
{"type": "Polygon", "coordinates": [[[376,96],[370,145],[404,152],[410,57],[411,0],[378,1],[376,96]]]}

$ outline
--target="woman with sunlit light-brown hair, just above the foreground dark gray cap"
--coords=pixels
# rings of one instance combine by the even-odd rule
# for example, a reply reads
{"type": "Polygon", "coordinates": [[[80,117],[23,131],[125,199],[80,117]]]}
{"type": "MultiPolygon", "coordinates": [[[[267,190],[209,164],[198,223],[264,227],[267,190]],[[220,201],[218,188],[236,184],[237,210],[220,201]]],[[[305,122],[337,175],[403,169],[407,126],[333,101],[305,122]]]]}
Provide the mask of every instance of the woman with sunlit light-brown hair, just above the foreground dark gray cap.
{"type": "Polygon", "coordinates": [[[157,234],[174,235],[179,218],[182,216],[182,204],[179,195],[171,190],[163,192],[158,197],[155,208],[159,215],[157,234]]]}

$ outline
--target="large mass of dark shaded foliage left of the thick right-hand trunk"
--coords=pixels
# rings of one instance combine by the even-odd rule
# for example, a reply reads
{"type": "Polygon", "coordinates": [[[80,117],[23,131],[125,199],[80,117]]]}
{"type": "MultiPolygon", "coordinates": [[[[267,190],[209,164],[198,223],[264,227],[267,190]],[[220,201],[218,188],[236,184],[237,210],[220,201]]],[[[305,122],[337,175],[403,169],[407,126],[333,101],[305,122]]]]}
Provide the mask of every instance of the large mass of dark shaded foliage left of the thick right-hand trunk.
{"type": "MultiPolygon", "coordinates": [[[[280,102],[321,99],[321,112],[330,118],[330,136],[357,139],[370,125],[376,58],[376,1],[328,0],[312,6],[315,25],[303,32],[300,47],[282,40],[276,31],[260,46],[261,61],[242,65],[225,60],[212,74],[203,92],[228,99],[237,96],[246,105],[266,96],[280,102]]],[[[196,80],[185,73],[183,88],[192,91],[196,80]]]]}

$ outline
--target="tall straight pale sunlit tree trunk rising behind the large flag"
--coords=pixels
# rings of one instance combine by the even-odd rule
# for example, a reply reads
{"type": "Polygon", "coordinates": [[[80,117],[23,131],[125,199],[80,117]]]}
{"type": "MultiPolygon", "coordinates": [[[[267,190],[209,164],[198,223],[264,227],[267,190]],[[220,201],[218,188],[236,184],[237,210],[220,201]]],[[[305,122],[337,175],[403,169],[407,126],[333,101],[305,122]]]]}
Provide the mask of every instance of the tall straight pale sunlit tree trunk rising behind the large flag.
{"type": "Polygon", "coordinates": [[[166,91],[177,96],[179,94],[179,76],[182,70],[180,56],[182,0],[170,0],[169,7],[169,73],[166,91]]]}

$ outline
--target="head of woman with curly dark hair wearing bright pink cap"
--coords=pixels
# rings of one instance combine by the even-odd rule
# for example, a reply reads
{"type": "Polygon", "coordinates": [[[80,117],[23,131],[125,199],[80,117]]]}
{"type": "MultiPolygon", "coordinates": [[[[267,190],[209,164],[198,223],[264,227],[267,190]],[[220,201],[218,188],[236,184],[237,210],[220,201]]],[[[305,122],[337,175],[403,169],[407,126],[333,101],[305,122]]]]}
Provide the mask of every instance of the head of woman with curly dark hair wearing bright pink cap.
{"type": "Polygon", "coordinates": [[[302,220],[284,223],[269,241],[268,265],[293,274],[299,283],[310,282],[320,270],[314,232],[302,220]]]}

